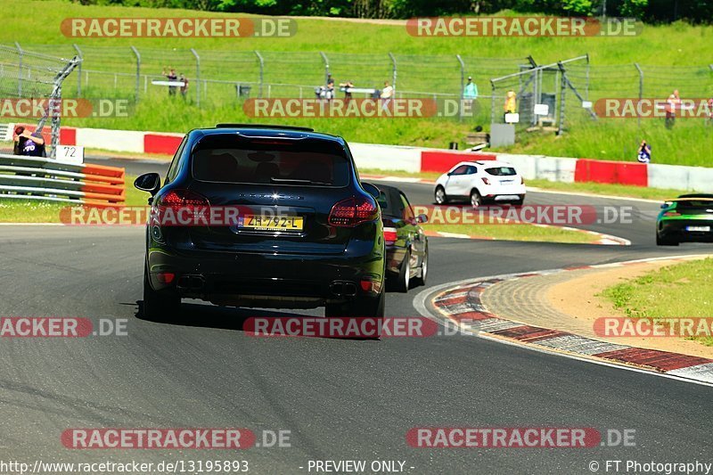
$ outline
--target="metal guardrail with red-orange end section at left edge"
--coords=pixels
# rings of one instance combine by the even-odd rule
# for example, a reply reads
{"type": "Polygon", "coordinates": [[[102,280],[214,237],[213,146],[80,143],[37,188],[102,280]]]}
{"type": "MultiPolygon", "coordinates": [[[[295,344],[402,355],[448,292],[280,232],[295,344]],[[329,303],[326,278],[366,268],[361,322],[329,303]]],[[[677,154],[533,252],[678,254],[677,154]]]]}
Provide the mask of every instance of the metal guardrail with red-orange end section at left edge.
{"type": "Polygon", "coordinates": [[[122,204],[124,168],[0,153],[0,199],[122,204]]]}

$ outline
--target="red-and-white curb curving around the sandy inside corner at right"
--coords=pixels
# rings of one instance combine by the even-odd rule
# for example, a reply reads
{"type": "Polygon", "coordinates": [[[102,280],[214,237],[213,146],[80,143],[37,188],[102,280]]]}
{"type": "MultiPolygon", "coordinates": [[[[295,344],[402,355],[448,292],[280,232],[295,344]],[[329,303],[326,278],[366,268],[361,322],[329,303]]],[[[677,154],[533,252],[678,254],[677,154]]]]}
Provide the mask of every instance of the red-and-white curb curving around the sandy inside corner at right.
{"type": "Polygon", "coordinates": [[[627,266],[657,260],[685,261],[710,255],[668,256],[644,258],[601,264],[595,266],[574,266],[548,269],[521,274],[502,274],[479,279],[469,279],[456,283],[439,285],[422,291],[414,299],[414,307],[423,316],[438,316],[455,323],[465,332],[481,338],[515,343],[533,349],[544,350],[562,356],[575,357],[584,361],[616,365],[627,369],[656,373],[679,379],[713,386],[713,359],[689,356],[649,348],[635,348],[609,341],[594,340],[570,332],[541,328],[526,323],[500,318],[488,312],[480,301],[480,295],[496,283],[524,279],[536,275],[559,274],[578,269],[597,269],[627,266]],[[428,301],[429,296],[436,296],[428,301]],[[433,315],[429,308],[438,312],[433,315]]]}

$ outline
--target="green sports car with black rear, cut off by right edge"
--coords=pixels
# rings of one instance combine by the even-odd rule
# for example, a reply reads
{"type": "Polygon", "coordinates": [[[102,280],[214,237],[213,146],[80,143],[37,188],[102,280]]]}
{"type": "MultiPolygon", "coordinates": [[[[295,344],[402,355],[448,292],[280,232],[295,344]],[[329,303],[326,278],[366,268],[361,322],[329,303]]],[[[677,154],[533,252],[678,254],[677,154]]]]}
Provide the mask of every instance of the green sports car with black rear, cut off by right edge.
{"type": "Polygon", "coordinates": [[[713,242],[713,194],[682,194],[661,205],[656,244],[680,242],[713,242]]]}

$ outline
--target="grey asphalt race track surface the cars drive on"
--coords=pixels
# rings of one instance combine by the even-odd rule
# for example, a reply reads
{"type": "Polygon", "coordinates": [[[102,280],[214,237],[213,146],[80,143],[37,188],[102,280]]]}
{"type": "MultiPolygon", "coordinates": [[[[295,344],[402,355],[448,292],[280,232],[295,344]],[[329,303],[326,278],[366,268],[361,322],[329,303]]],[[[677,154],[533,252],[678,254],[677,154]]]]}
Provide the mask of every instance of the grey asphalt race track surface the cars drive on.
{"type": "MultiPolygon", "coordinates": [[[[132,174],[165,168],[151,162],[120,165],[132,174]]],[[[430,204],[430,185],[397,186],[414,204],[430,204]]],[[[632,245],[432,238],[429,286],[711,250],[703,244],[657,248],[654,203],[536,192],[528,202],[630,205],[637,210],[633,225],[588,228],[632,245]]],[[[606,460],[711,462],[713,389],[706,386],[466,335],[361,341],[255,338],[242,332],[244,318],[275,315],[269,310],[188,303],[173,322],[143,320],[138,315],[143,233],[143,227],[0,227],[0,315],[127,320],[126,336],[0,341],[4,459],[247,460],[255,473],[307,473],[310,460],[397,460],[406,462],[407,473],[419,474],[591,473],[590,462],[601,463],[603,472],[606,460]],[[414,427],[520,426],[633,429],[636,446],[406,444],[406,432],[414,427]],[[290,430],[291,447],[181,452],[61,445],[63,430],[94,427],[290,430]]],[[[413,299],[422,290],[389,293],[387,314],[418,315],[413,299]]]]}

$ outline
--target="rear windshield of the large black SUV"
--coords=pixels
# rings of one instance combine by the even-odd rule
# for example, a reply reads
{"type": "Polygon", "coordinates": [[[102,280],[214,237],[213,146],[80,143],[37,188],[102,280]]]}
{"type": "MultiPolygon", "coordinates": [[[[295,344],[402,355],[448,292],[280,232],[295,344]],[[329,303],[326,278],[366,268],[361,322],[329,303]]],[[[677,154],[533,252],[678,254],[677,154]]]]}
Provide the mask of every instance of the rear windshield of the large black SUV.
{"type": "Polygon", "coordinates": [[[346,186],[349,160],[339,143],[317,139],[208,135],[193,149],[193,177],[205,182],[346,186]]]}

